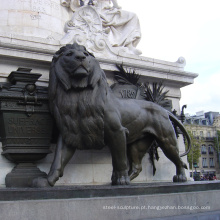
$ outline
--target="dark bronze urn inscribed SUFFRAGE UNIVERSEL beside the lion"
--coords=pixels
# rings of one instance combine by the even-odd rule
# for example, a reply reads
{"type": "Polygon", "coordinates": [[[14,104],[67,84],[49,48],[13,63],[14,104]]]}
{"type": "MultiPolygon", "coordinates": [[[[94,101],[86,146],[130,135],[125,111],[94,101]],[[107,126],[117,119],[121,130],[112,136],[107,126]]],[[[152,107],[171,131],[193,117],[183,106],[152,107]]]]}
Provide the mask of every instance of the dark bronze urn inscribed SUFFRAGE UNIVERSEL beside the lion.
{"type": "Polygon", "coordinates": [[[50,153],[53,119],[47,88],[36,86],[41,76],[19,68],[0,84],[0,136],[2,155],[17,166],[6,175],[7,187],[30,187],[46,176],[33,163],[50,153]]]}

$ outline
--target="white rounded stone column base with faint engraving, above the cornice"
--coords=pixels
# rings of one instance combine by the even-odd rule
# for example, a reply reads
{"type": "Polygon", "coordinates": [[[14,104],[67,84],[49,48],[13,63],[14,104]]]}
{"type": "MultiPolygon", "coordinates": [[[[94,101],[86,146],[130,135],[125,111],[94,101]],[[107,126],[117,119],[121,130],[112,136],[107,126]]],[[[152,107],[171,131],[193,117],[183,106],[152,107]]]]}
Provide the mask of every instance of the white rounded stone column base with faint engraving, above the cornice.
{"type": "Polygon", "coordinates": [[[0,34],[11,38],[38,37],[59,40],[69,19],[60,0],[7,0],[0,4],[0,34]]]}

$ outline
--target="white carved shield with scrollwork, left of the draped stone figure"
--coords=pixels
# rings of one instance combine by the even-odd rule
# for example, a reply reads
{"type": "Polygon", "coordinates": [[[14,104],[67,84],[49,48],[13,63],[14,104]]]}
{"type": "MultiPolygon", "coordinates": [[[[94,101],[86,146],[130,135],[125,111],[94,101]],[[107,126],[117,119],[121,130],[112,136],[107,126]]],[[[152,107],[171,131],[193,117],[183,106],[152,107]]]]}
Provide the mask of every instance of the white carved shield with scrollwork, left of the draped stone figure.
{"type": "Polygon", "coordinates": [[[92,6],[78,8],[71,20],[65,24],[66,34],[60,40],[61,45],[78,43],[94,53],[115,56],[128,52],[125,47],[112,47],[108,40],[108,28],[103,29],[97,10],[92,6]]]}

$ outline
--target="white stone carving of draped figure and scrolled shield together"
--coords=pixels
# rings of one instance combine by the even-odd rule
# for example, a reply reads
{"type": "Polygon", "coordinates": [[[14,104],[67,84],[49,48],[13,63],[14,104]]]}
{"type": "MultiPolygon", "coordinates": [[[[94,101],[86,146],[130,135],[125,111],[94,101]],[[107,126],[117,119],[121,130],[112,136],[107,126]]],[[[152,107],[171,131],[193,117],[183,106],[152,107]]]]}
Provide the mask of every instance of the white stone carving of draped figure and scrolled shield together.
{"type": "Polygon", "coordinates": [[[138,17],[109,2],[98,0],[95,5],[87,5],[87,0],[81,7],[78,0],[61,0],[63,6],[74,12],[66,23],[61,44],[76,42],[97,53],[140,55],[141,51],[136,49],[141,39],[138,17]]]}

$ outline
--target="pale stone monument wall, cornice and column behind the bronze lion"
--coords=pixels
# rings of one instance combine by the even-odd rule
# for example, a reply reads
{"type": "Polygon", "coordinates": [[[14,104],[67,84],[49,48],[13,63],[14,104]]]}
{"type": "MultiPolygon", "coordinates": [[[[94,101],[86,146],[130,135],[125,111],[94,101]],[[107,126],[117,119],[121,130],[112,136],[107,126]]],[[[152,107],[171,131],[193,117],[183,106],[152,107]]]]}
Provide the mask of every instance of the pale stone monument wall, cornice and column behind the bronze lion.
{"type": "MultiPolygon", "coordinates": [[[[64,36],[64,23],[70,19],[67,8],[60,6],[59,0],[9,0],[0,5],[0,81],[7,81],[7,76],[18,67],[33,69],[42,74],[37,85],[47,86],[49,69],[53,54],[60,48],[60,39],[64,36]]],[[[115,82],[115,64],[135,70],[140,74],[141,82],[163,81],[169,90],[168,99],[172,100],[173,109],[180,114],[180,88],[192,84],[197,74],[184,71],[185,60],[176,62],[118,53],[107,57],[94,53],[105,71],[109,85],[115,82]]],[[[179,137],[180,154],[185,151],[182,136],[179,137]]],[[[53,149],[52,149],[53,150],[53,149]]],[[[53,154],[38,162],[38,167],[48,173],[53,154]]],[[[134,182],[172,181],[175,166],[159,151],[160,160],[156,162],[157,172],[153,168],[148,154],[143,158],[143,171],[134,182]]],[[[186,162],[186,157],[183,158],[186,162]]],[[[6,170],[12,163],[0,156],[0,185],[4,186],[6,170]]],[[[105,184],[110,183],[112,162],[107,148],[101,151],[78,151],[65,168],[64,176],[57,184],[105,184]]],[[[187,174],[188,175],[188,174],[187,174]]],[[[189,175],[188,175],[189,177],[189,175]]]]}

